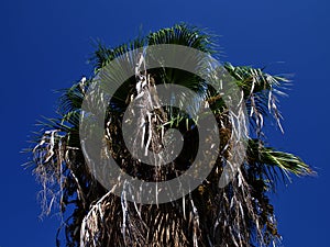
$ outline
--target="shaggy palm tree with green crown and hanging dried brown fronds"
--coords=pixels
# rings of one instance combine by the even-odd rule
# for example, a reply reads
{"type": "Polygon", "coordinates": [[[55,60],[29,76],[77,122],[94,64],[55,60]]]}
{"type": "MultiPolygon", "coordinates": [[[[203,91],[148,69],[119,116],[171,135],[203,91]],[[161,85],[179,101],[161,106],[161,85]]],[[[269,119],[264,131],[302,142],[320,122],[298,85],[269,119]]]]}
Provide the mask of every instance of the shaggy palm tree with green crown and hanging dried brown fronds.
{"type": "MultiPolygon", "coordinates": [[[[275,120],[282,130],[276,97],[284,94],[282,90],[288,83],[284,77],[266,74],[264,68],[223,64],[231,81],[243,93],[250,130],[244,160],[226,187],[219,187],[219,180],[226,160],[234,151],[232,135],[234,131],[245,133],[248,130],[241,130],[242,126],[231,122],[231,110],[223,97],[205,79],[178,68],[140,69],[139,76],[147,80],[140,89],[144,92],[141,98],[136,91],[136,76],[127,79],[107,105],[102,139],[108,154],[132,177],[166,181],[182,175],[190,167],[198,149],[198,120],[173,106],[154,108],[155,121],[147,122],[146,114],[147,109],[157,106],[156,85],[189,88],[198,96],[191,104],[210,106],[221,141],[211,172],[195,190],[166,203],[135,203],[129,201],[124,193],[119,197],[109,192],[96,179],[84,156],[79,138],[84,100],[94,79],[109,63],[136,48],[162,44],[188,46],[217,56],[212,38],[200,29],[177,24],[114,48],[99,44],[92,59],[95,75],[62,91],[59,116],[41,123],[43,128],[31,148],[33,162],[30,164],[43,186],[44,214],[50,214],[57,205],[64,218],[57,233],[57,246],[61,245],[61,229],[65,231],[67,246],[268,246],[278,243],[280,236],[270,201],[271,193],[276,190],[277,182],[286,183],[290,173],[314,173],[299,157],[265,144],[264,119],[275,120]],[[145,144],[150,138],[148,150],[157,153],[163,144],[162,131],[175,127],[185,137],[182,153],[168,166],[145,166],[130,154],[124,144],[121,133],[123,114],[133,100],[138,102],[138,98],[144,112],[132,111],[138,114],[140,123],[147,122],[147,128],[143,132],[136,124],[133,142],[144,139],[145,144]]],[[[135,63],[132,61],[132,69],[135,63]]],[[[118,75],[108,74],[110,77],[118,75]]]]}

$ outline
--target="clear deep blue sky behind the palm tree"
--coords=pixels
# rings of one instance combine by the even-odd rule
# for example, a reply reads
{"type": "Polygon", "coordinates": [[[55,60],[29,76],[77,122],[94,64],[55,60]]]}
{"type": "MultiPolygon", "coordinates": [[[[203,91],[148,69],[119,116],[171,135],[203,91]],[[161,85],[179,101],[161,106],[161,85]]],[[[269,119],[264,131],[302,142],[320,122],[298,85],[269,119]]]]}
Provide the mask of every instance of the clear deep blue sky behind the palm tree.
{"type": "Polygon", "coordinates": [[[55,246],[56,216],[37,218],[40,204],[26,156],[33,124],[54,116],[58,94],[90,74],[91,38],[118,45],[143,31],[177,22],[222,35],[219,45],[235,65],[271,65],[295,74],[282,99],[285,135],[270,143],[299,154],[318,178],[294,179],[274,197],[284,246],[329,246],[330,5],[327,0],[11,0],[0,5],[1,247],[55,246]],[[284,64],[276,64],[284,61],[284,64]],[[273,65],[272,65],[273,64],[273,65]]]}

